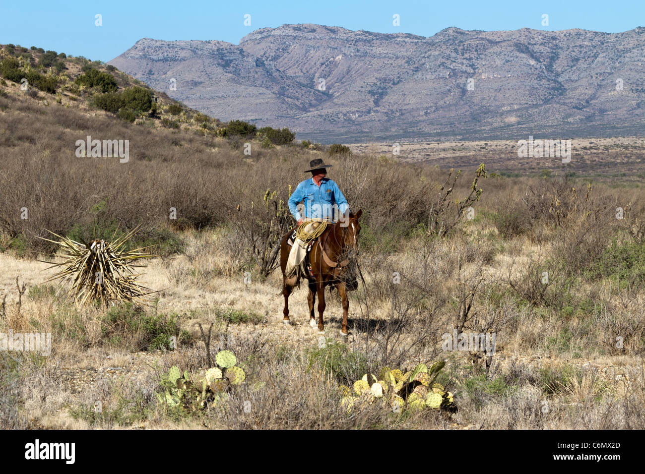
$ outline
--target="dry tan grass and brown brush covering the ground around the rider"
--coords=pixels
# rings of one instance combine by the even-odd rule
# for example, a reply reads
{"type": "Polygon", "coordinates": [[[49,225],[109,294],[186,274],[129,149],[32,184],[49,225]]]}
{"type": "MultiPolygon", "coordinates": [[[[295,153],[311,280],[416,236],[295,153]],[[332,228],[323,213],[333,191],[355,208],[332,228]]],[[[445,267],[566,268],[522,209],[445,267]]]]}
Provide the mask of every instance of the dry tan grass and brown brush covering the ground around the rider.
{"type": "MultiPolygon", "coordinates": [[[[347,341],[335,338],[339,297],[326,293],[331,345],[321,351],[304,286],[290,299],[293,325],[281,324],[281,275],[263,277],[250,249],[267,221],[246,212],[267,189],[286,201],[321,152],[252,141],[248,156],[185,123],[128,124],[11,92],[0,97],[9,157],[0,186],[10,190],[0,194],[0,332],[51,333],[52,353],[0,353],[1,428],[645,428],[640,188],[592,184],[587,193],[558,176],[490,176],[479,181],[474,219],[450,204],[446,217],[460,223],[437,238],[426,226],[446,170],[325,155],[352,209],[363,210],[365,285],[350,293],[347,341]],[[130,161],[76,158],[86,135],[129,139],[130,161]],[[35,237],[94,225],[110,235],[143,227],[137,246],[162,255],[141,277],[159,290],[154,308],[79,308],[43,284],[53,271],[33,257],[52,249],[35,237]],[[235,351],[248,380],[220,406],[169,413],[154,395],[159,376],[173,365],[206,368],[197,324],[211,323],[211,353],[235,351]],[[495,355],[442,351],[455,328],[494,332],[495,355]],[[341,407],[339,384],[384,364],[437,359],[448,361],[441,383],[455,393],[456,414],[341,407]]],[[[454,199],[468,196],[472,179],[464,173],[454,199]]]]}

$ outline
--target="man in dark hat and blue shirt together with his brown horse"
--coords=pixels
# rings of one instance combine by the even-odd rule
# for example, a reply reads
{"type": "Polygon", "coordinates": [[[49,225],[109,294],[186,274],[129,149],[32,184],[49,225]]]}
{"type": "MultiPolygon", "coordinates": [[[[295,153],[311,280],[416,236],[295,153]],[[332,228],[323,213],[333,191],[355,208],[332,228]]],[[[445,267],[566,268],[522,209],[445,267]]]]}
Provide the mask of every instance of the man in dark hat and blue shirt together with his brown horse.
{"type": "Polygon", "coordinates": [[[331,179],[326,177],[322,159],[309,164],[312,178],[298,184],[289,198],[289,210],[297,222],[297,229],[289,232],[281,242],[281,269],[283,272],[284,319],[289,324],[288,299],[301,279],[309,286],[307,301],[310,325],[324,333],[323,311],[324,288],[333,285],[342,299],[341,335],[346,336],[349,301],[346,290],[358,286],[355,275],[355,259],[361,224],[361,211],[353,215],[347,199],[331,179]],[[304,206],[299,205],[304,202],[304,206]],[[304,212],[304,217],[301,213],[304,212]],[[308,263],[306,263],[308,261],[308,263]],[[313,312],[315,296],[318,295],[319,321],[316,324],[313,312]]]}

